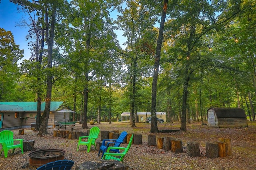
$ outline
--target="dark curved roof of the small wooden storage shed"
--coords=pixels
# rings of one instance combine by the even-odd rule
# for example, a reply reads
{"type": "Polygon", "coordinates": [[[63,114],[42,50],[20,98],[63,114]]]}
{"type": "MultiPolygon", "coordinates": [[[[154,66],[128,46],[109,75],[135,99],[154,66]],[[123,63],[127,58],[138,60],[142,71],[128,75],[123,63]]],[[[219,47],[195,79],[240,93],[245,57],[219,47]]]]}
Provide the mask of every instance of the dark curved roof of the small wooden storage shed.
{"type": "Polygon", "coordinates": [[[213,109],[216,116],[218,118],[226,118],[226,117],[233,117],[233,118],[244,118],[246,117],[244,109],[241,108],[210,108],[213,109]]]}

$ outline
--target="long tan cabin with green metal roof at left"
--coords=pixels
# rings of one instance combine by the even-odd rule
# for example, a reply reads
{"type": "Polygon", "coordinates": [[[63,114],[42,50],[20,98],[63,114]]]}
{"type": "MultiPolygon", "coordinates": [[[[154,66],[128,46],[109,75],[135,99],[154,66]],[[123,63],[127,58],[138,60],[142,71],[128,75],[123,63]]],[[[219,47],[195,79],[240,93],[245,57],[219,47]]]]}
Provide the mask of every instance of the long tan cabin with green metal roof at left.
{"type": "MultiPolygon", "coordinates": [[[[53,127],[55,112],[63,102],[51,102],[48,127],[53,127]]],[[[45,102],[41,104],[41,115],[45,102]]],[[[0,102],[0,131],[4,129],[29,128],[36,123],[37,102],[0,102]]]]}

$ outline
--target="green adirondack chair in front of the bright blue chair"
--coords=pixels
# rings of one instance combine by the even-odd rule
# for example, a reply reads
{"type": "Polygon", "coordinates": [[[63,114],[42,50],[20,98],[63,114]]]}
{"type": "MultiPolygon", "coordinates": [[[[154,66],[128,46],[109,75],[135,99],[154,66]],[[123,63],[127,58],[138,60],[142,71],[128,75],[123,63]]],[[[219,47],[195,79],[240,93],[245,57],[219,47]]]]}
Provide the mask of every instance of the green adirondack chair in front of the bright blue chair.
{"type": "Polygon", "coordinates": [[[106,159],[106,160],[119,160],[121,162],[123,162],[123,158],[126,155],[126,153],[128,152],[128,150],[130,149],[131,145],[132,145],[132,138],[133,138],[133,134],[132,137],[130,138],[130,141],[127,145],[127,147],[108,147],[107,152],[104,152],[103,158],[102,159],[106,159]],[[119,150],[124,150],[122,153],[112,153],[109,152],[111,149],[119,149],[119,150]]]}

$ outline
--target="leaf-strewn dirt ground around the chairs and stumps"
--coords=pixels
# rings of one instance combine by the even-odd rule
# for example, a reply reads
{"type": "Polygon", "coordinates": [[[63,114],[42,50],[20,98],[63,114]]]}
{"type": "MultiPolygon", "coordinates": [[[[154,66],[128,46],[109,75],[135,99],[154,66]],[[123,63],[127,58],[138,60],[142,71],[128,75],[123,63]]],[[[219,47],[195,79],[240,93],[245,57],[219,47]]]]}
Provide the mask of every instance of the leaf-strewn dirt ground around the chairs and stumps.
{"type": "MultiPolygon", "coordinates": [[[[213,128],[207,125],[201,125],[200,122],[188,124],[187,131],[177,131],[172,133],[156,133],[157,137],[172,137],[181,139],[183,144],[182,153],[174,153],[170,150],[158,149],[157,146],[148,146],[149,123],[136,123],[136,127],[131,127],[128,122],[103,122],[95,123],[89,127],[98,126],[101,131],[142,134],[142,145],[132,145],[126,156],[124,163],[130,166],[131,170],[254,170],[256,169],[256,122],[248,122],[248,127],[237,128],[213,128]],[[215,142],[219,138],[228,138],[231,140],[232,155],[225,158],[207,158],[206,142],[215,142]],[[187,142],[196,141],[200,143],[200,156],[191,157],[187,153],[187,142]]],[[[76,125],[75,131],[85,132],[87,129],[81,129],[82,125],[76,125]]],[[[158,129],[179,129],[180,124],[158,124],[158,129]]],[[[53,131],[48,129],[48,135],[37,136],[38,132],[31,129],[24,129],[24,135],[18,135],[19,129],[12,130],[14,139],[35,140],[35,149],[63,149],[66,151],[65,159],[75,162],[72,170],[82,162],[88,160],[100,160],[98,151],[91,147],[89,153],[86,152],[86,146],[77,148],[77,139],[66,139],[53,137],[53,131]]],[[[100,140],[100,137],[99,139],[100,140]]],[[[121,146],[126,147],[127,144],[121,146]]],[[[0,147],[1,148],[1,147],[0,147]]],[[[29,165],[28,152],[21,154],[20,149],[16,149],[12,154],[8,152],[8,157],[4,154],[0,156],[0,170],[35,170],[36,167],[29,165]]]]}

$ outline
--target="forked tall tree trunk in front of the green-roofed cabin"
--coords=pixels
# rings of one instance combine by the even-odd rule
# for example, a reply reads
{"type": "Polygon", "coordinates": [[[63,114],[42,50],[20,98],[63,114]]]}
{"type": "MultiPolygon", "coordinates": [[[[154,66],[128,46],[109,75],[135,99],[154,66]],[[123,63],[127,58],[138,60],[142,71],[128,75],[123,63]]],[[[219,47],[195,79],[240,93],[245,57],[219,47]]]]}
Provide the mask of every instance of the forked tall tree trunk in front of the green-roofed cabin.
{"type": "Polygon", "coordinates": [[[49,35],[49,22],[48,22],[48,4],[47,2],[44,4],[45,9],[45,23],[46,23],[46,43],[48,46],[48,56],[47,56],[47,92],[46,92],[46,101],[45,101],[45,109],[42,117],[40,119],[40,128],[38,135],[45,135],[48,133],[48,119],[50,115],[50,105],[52,98],[52,72],[50,71],[52,68],[52,48],[53,48],[53,39],[54,39],[54,28],[55,28],[55,19],[56,19],[56,3],[52,4],[52,16],[51,16],[51,26],[50,26],[50,35],[49,35]]]}

